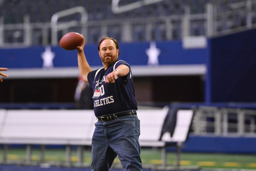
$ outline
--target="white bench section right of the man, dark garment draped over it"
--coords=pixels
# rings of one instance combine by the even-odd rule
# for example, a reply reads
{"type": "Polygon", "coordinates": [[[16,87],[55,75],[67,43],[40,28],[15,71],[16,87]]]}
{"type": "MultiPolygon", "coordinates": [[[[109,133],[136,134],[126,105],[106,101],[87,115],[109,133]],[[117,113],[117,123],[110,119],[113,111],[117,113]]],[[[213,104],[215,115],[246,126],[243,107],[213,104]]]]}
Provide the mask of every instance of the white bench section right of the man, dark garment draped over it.
{"type": "Polygon", "coordinates": [[[140,119],[140,146],[148,147],[161,147],[162,153],[162,166],[167,165],[167,153],[166,148],[169,145],[174,145],[177,149],[177,166],[180,162],[180,153],[182,144],[187,140],[189,128],[192,122],[193,111],[192,110],[178,110],[176,117],[176,126],[174,128],[174,134],[171,137],[170,132],[165,132],[161,136],[162,126],[167,116],[169,108],[163,108],[163,110],[151,110],[146,113],[138,113],[140,119]],[[173,143],[173,144],[170,144],[173,143]]]}

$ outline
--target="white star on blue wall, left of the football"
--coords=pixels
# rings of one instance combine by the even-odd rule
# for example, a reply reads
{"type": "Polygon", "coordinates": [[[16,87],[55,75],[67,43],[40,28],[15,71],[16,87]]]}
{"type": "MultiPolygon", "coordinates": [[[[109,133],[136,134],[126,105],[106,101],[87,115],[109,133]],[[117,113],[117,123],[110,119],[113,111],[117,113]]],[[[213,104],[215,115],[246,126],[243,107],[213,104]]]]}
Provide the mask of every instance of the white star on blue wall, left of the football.
{"type": "Polygon", "coordinates": [[[41,57],[44,60],[44,63],[43,63],[44,69],[53,68],[53,59],[55,57],[55,53],[51,51],[51,46],[45,47],[45,52],[41,54],[41,57]]]}

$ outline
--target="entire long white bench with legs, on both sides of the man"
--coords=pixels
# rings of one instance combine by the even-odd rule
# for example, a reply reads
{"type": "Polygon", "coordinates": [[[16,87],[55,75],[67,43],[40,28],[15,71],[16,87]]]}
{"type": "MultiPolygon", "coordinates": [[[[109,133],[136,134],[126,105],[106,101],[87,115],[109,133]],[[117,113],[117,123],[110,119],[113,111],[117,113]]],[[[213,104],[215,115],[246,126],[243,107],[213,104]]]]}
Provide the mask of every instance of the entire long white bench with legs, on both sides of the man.
{"type": "MultiPolygon", "coordinates": [[[[165,133],[159,141],[168,110],[137,111],[140,146],[161,147],[164,166],[168,142],[177,142],[179,164],[180,147],[186,141],[193,115],[192,110],[179,110],[173,137],[165,133]]],[[[91,146],[95,122],[93,110],[0,110],[0,144],[4,145],[4,162],[7,162],[8,144],[27,145],[27,164],[31,163],[31,145],[41,145],[41,162],[45,158],[45,145],[66,145],[66,163],[70,166],[71,145],[77,145],[77,164],[82,165],[83,146],[91,146]]]]}

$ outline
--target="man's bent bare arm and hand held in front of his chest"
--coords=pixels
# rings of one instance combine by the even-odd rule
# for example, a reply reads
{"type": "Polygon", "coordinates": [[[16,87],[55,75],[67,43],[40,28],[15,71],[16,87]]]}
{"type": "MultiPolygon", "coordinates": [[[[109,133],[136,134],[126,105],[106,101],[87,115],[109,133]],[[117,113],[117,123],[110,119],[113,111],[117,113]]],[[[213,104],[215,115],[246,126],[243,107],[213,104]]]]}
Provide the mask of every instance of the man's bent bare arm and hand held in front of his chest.
{"type": "Polygon", "coordinates": [[[113,83],[115,82],[115,79],[117,79],[117,76],[126,76],[130,71],[129,67],[126,65],[119,65],[115,70],[107,75],[105,83],[113,83]]]}

